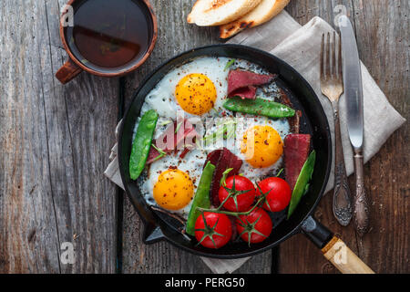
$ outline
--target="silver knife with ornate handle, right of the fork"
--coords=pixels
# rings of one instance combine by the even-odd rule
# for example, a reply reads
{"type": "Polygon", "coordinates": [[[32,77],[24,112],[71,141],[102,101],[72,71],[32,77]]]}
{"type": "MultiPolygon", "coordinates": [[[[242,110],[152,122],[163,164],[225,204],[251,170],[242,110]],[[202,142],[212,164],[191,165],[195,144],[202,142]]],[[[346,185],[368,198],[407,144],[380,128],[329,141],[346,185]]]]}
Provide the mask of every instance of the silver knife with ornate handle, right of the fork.
{"type": "Polygon", "coordinates": [[[369,203],[364,192],[364,110],[362,70],[354,28],[347,16],[339,18],[342,37],[343,83],[347,105],[347,128],[354,150],[356,192],[354,196],[354,224],[363,236],[369,228],[369,203]]]}

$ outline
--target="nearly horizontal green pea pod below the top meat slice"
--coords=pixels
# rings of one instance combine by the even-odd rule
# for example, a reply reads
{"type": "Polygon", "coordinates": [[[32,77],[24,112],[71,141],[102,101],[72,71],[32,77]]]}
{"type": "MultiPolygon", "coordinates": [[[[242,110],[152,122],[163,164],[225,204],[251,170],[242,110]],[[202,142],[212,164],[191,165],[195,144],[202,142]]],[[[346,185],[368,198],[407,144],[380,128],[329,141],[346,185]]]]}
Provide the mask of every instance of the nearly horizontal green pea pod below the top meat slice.
{"type": "Polygon", "coordinates": [[[251,115],[265,116],[269,118],[291,118],[296,111],[282,103],[267,99],[241,99],[234,97],[228,99],[223,107],[226,110],[239,111],[251,115]]]}

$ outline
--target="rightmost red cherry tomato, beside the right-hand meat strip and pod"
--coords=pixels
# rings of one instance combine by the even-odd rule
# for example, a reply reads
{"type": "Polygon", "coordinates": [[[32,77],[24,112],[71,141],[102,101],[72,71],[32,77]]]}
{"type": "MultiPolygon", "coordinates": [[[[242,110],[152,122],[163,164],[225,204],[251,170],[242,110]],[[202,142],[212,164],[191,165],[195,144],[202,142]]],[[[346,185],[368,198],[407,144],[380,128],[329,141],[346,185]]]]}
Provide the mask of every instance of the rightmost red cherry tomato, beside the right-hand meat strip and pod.
{"type": "Polygon", "coordinates": [[[280,212],[284,210],[292,198],[292,191],[289,183],[286,183],[279,177],[267,178],[261,183],[258,183],[258,196],[262,193],[268,193],[266,196],[266,202],[263,204],[263,208],[271,212],[280,212]],[[260,191],[261,189],[261,191],[260,191]]]}

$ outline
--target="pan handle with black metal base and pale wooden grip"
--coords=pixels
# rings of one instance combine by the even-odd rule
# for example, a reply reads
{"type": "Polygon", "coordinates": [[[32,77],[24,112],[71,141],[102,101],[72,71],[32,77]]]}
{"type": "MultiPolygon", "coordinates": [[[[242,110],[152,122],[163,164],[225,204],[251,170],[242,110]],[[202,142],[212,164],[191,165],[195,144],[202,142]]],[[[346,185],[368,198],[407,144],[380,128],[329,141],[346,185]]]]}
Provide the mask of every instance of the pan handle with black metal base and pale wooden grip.
{"type": "Polygon", "coordinates": [[[313,244],[322,250],[326,259],[343,274],[374,274],[374,271],[347,247],[343,241],[334,236],[323,224],[313,216],[309,216],[301,225],[302,233],[313,244]]]}

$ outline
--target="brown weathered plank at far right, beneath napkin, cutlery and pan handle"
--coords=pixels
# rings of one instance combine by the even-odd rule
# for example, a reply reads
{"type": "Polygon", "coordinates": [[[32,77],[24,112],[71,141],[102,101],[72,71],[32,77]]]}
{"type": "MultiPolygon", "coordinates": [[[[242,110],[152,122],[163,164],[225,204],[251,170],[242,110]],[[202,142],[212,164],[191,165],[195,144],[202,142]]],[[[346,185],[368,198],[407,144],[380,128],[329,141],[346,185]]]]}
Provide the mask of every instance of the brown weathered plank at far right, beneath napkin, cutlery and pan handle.
{"type": "MultiPolygon", "coordinates": [[[[333,9],[312,9],[322,1],[298,1],[289,7],[302,24],[313,16],[330,21],[333,9]]],[[[327,1],[326,1],[327,3],[327,1]]],[[[329,1],[330,3],[330,1],[329,1]]],[[[340,3],[332,1],[332,4],[340,3]]],[[[354,20],[358,46],[364,64],[397,110],[409,119],[409,51],[407,1],[345,1],[354,20]]],[[[378,273],[409,272],[408,123],[397,130],[382,150],[365,167],[366,192],[371,200],[371,231],[363,240],[356,238],[354,226],[337,224],[332,214],[332,194],[320,203],[316,216],[342,236],[354,252],[378,273]]],[[[350,178],[354,186],[354,178],[350,178]]],[[[282,273],[334,273],[320,252],[305,244],[302,235],[281,245],[282,273]]]]}

